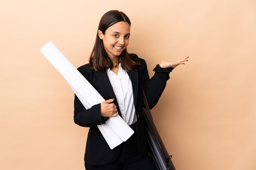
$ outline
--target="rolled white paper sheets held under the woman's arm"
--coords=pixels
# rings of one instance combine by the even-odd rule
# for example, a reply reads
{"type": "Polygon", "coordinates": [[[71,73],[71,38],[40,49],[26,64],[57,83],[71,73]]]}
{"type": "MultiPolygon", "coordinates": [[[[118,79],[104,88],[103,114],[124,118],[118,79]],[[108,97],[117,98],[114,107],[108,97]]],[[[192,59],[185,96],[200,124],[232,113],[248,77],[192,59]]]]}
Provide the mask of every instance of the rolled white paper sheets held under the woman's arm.
{"type": "MultiPolygon", "coordinates": [[[[52,42],[48,42],[43,46],[40,52],[52,63],[61,75],[63,75],[86,109],[105,101],[52,42]]],[[[120,145],[134,133],[130,126],[128,126],[119,115],[117,117],[110,117],[106,121],[106,124],[98,125],[97,127],[107,141],[110,149],[120,145]]]]}

